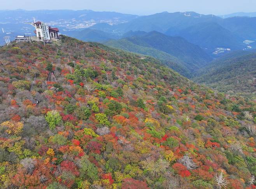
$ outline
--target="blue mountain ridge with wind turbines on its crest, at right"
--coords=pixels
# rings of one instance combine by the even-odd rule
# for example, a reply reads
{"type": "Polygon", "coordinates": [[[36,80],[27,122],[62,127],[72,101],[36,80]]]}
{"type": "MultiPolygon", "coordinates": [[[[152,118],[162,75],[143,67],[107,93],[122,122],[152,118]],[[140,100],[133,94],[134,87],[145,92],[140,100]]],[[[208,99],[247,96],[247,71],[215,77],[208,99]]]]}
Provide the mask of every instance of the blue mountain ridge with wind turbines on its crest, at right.
{"type": "Polygon", "coordinates": [[[215,48],[244,49],[244,40],[256,39],[256,17],[230,17],[223,19],[215,15],[203,15],[196,12],[162,12],[137,17],[126,23],[102,27],[91,27],[102,31],[124,34],[132,31],[158,31],[169,36],[182,36],[191,43],[208,49],[215,48]]]}

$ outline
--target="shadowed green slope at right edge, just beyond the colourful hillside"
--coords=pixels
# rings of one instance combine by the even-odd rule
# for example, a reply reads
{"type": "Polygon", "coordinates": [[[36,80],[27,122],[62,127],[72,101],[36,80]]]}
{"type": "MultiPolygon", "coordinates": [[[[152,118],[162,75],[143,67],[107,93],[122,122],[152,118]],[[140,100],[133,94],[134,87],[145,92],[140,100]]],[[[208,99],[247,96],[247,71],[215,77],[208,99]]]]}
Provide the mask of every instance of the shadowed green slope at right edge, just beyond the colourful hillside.
{"type": "Polygon", "coordinates": [[[193,80],[219,91],[256,98],[256,53],[237,54],[242,56],[233,53],[210,62],[196,72],[193,80]]]}

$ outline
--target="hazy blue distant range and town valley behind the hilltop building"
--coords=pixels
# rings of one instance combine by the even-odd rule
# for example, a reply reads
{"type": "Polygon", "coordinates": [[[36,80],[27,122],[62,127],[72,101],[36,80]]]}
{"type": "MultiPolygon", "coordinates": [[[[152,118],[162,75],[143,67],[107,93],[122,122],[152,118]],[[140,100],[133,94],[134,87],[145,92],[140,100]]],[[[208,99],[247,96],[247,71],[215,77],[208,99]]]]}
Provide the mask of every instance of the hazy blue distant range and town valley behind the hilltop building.
{"type": "Polygon", "coordinates": [[[47,22],[50,26],[58,27],[60,33],[72,34],[94,24],[113,25],[128,22],[136,17],[138,16],[93,10],[0,10],[0,28],[5,31],[0,32],[0,45],[4,45],[2,38],[6,35],[11,36],[11,40],[17,35],[32,35],[33,26],[25,23],[33,22],[33,18],[35,21],[47,22]]]}

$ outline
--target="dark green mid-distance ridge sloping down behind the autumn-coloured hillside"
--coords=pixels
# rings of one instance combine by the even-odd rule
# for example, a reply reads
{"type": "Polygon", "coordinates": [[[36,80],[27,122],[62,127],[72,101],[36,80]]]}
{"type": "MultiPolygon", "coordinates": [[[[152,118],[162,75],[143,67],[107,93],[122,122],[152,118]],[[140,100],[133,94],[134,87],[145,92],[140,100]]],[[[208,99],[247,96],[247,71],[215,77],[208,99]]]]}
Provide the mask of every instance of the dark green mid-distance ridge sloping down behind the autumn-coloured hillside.
{"type": "Polygon", "coordinates": [[[130,32],[124,34],[126,35],[129,37],[110,40],[104,44],[164,60],[166,65],[186,77],[190,77],[193,71],[212,60],[199,46],[181,37],[171,37],[157,31],[130,32]]]}

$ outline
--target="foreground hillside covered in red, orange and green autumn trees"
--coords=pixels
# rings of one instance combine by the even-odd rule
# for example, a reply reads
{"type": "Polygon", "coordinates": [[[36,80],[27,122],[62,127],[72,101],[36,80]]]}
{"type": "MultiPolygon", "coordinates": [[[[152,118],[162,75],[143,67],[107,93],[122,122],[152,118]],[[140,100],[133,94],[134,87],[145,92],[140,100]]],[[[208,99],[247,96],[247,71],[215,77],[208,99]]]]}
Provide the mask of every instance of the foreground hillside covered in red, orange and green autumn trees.
{"type": "Polygon", "coordinates": [[[0,188],[255,187],[255,101],[66,36],[0,63],[0,188]]]}

